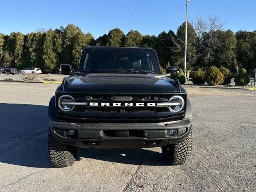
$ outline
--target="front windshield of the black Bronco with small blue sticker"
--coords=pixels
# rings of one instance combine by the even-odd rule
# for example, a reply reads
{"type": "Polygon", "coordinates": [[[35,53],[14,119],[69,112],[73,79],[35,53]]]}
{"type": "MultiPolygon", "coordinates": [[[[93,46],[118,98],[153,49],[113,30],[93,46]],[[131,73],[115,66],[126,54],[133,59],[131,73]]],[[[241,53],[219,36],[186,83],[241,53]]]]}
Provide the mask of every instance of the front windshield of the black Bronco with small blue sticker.
{"type": "Polygon", "coordinates": [[[148,72],[159,74],[153,52],[93,51],[84,53],[80,72],[148,72]]]}

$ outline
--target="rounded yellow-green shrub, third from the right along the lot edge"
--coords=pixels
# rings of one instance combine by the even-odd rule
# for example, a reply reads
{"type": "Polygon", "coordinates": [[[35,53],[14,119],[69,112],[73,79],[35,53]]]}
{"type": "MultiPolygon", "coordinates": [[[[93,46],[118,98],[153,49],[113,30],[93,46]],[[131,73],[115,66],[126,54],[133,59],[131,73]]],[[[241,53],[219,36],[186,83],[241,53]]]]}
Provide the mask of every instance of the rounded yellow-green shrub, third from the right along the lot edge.
{"type": "Polygon", "coordinates": [[[208,85],[217,86],[224,82],[224,75],[216,66],[211,66],[205,74],[205,81],[208,85]]]}

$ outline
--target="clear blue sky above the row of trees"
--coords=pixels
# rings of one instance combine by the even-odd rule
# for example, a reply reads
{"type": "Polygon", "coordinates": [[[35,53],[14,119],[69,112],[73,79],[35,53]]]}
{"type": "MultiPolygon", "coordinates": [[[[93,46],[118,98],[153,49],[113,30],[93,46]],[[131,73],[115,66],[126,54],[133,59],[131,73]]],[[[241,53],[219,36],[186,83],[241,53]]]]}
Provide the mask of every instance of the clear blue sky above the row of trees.
{"type": "MultiPolygon", "coordinates": [[[[185,20],[186,0],[0,0],[0,33],[59,28],[68,23],[97,38],[113,28],[143,35],[173,30],[185,20]]],[[[188,17],[216,14],[226,29],[256,30],[255,0],[190,0],[188,17]]]]}

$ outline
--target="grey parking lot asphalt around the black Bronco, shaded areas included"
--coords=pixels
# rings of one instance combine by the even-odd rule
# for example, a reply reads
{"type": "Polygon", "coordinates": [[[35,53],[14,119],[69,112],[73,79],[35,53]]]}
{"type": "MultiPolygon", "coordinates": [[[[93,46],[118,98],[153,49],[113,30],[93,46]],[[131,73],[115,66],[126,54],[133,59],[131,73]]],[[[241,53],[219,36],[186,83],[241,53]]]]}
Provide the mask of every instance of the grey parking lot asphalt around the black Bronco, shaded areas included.
{"type": "Polygon", "coordinates": [[[193,148],[184,165],[166,165],[160,148],[80,149],[73,166],[52,168],[47,112],[57,86],[0,82],[1,192],[256,191],[256,91],[186,88],[193,148]]]}

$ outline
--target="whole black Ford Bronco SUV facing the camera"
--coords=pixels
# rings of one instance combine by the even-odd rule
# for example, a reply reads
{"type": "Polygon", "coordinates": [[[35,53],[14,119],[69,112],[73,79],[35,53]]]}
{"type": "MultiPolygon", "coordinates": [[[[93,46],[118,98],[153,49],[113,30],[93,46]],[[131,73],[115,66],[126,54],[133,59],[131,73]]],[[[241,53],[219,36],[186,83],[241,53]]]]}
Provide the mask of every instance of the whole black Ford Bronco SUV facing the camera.
{"type": "Polygon", "coordinates": [[[178,67],[167,73],[152,48],[84,48],[78,72],[49,103],[53,166],[71,166],[78,147],[162,147],[168,164],[183,164],[192,149],[192,110],[178,67]]]}

